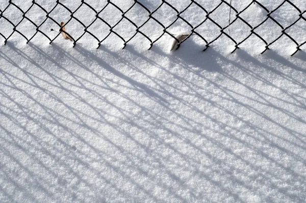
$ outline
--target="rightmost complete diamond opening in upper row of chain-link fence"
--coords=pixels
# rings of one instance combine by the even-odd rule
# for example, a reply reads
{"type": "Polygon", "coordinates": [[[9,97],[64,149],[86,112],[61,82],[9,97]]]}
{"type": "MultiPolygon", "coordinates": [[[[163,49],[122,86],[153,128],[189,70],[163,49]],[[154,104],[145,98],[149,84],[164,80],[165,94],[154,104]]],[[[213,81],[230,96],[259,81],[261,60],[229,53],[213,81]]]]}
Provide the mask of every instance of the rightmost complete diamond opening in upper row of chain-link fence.
{"type": "Polygon", "coordinates": [[[273,11],[270,16],[286,28],[299,18],[299,14],[300,12],[295,7],[285,2],[281,7],[273,11]]]}

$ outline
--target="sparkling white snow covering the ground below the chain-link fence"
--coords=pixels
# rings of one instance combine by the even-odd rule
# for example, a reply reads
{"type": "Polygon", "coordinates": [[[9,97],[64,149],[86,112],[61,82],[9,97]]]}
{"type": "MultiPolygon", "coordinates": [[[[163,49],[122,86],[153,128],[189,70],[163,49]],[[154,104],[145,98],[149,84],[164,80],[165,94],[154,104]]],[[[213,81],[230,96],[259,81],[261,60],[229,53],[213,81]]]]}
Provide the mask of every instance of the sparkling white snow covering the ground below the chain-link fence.
{"type": "MultiPolygon", "coordinates": [[[[32,5],[13,2],[23,10],[32,5]]],[[[55,5],[39,2],[46,10],[55,5]]],[[[61,2],[71,10],[80,5],[61,2]]],[[[134,1],[112,2],[124,10],[134,1]]],[[[177,10],[190,3],[168,2],[177,10]]],[[[220,1],[197,2],[210,10],[220,1]]],[[[239,9],[249,2],[232,4],[239,9]]],[[[272,10],[283,1],[260,2],[272,10]]],[[[292,2],[305,9],[303,1],[292,2]]],[[[2,10],[8,4],[0,3],[2,10]]],[[[161,1],[142,3],[154,10],[161,1]]],[[[116,21],[112,9],[105,16],[116,21]]],[[[171,22],[171,9],[161,9],[156,15],[171,22]]],[[[31,19],[43,20],[39,12],[31,19]]],[[[147,15],[141,7],[131,12],[134,20],[147,15]]],[[[226,25],[228,7],[218,12],[226,25]]],[[[291,23],[295,12],[288,4],[275,18],[291,23]]],[[[84,20],[91,14],[79,11],[84,20]]],[[[21,17],[13,10],[4,15],[21,17]]],[[[53,13],[58,21],[67,21],[65,15],[60,8],[53,13]]],[[[201,17],[184,15],[193,22],[201,17]]],[[[265,15],[252,5],[244,17],[256,24],[265,15]]],[[[303,31],[302,23],[296,29],[303,31]]],[[[142,31],[157,38],[162,28],[154,25],[142,31]]],[[[247,36],[242,25],[235,22],[231,36],[247,36]]],[[[17,28],[35,32],[27,23],[17,28]]],[[[50,28],[59,28],[46,22],[45,32],[55,36],[50,28]]],[[[78,37],[79,28],[71,21],[66,29],[78,37]]],[[[129,28],[119,24],[118,32],[132,36],[135,29],[129,28]]],[[[3,22],[0,29],[12,28],[3,22]]],[[[201,29],[212,37],[219,33],[208,24],[201,29]]],[[[280,35],[273,29],[280,30],[273,21],[261,27],[268,42],[280,35]]],[[[180,20],[169,30],[178,34],[190,27],[180,20]]],[[[304,36],[294,37],[302,42],[304,36]]],[[[79,42],[73,48],[59,36],[50,45],[38,34],[26,44],[14,33],[0,47],[0,202],[306,201],[306,54],[290,57],[296,45],[286,36],[263,55],[265,44],[254,36],[234,54],[226,37],[206,52],[196,36],[171,53],[170,36],[151,50],[140,34],[123,50],[114,34],[99,49],[88,34],[79,42]]]]}

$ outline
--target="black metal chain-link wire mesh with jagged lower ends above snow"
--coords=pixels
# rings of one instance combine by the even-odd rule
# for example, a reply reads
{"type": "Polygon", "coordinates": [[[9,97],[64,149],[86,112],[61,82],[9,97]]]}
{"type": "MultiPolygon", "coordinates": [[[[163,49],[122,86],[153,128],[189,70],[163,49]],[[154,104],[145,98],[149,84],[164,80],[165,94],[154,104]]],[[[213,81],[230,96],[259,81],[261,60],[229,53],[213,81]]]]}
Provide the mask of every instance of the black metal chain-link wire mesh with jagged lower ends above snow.
{"type": "MultiPolygon", "coordinates": [[[[149,8],[144,6],[144,4],[142,4],[138,0],[131,1],[131,2],[133,2],[132,6],[130,6],[126,10],[121,9],[120,5],[116,5],[111,0],[107,0],[104,7],[103,8],[98,8],[98,9],[91,6],[85,0],[82,0],[80,2],[80,5],[77,7],[77,9],[75,9],[73,11],[71,11],[68,8],[67,5],[64,5],[59,0],[56,1],[55,6],[50,10],[45,9],[44,5],[40,5],[37,2],[38,1],[33,0],[32,5],[28,9],[21,9],[20,6],[17,6],[12,0],[10,0],[8,2],[8,5],[3,10],[0,9],[0,20],[5,20],[6,22],[9,22],[11,24],[11,28],[12,28],[11,31],[6,30],[6,33],[8,33],[8,34],[4,34],[3,30],[0,30],[0,35],[4,38],[4,43],[6,43],[11,38],[11,36],[15,33],[18,33],[23,38],[25,38],[25,40],[27,40],[27,43],[30,42],[31,40],[33,40],[33,38],[36,35],[38,35],[38,33],[42,34],[46,39],[48,39],[49,43],[52,43],[56,38],[59,37],[59,35],[61,35],[61,33],[65,33],[66,36],[73,41],[73,46],[75,46],[75,44],[79,43],[79,41],[84,37],[85,34],[89,34],[90,36],[92,36],[97,41],[97,48],[99,48],[101,43],[103,43],[107,38],[109,38],[109,36],[111,34],[115,34],[116,36],[118,36],[122,40],[123,48],[124,48],[126,46],[126,44],[129,43],[136,35],[142,35],[144,38],[146,38],[149,41],[149,49],[150,49],[152,47],[152,45],[154,45],[163,35],[166,34],[166,35],[171,36],[173,39],[175,39],[177,41],[177,48],[179,48],[180,45],[184,41],[186,41],[191,35],[197,35],[198,37],[200,37],[206,43],[205,47],[203,47],[204,48],[203,50],[206,50],[212,43],[217,43],[217,40],[221,36],[225,36],[228,40],[231,40],[233,43],[235,43],[235,49],[233,50],[233,52],[235,52],[235,50],[237,48],[239,48],[239,46],[242,43],[244,43],[251,36],[252,37],[255,36],[257,38],[257,40],[260,40],[260,41],[265,43],[265,49],[262,52],[262,53],[264,53],[267,49],[269,49],[269,47],[273,43],[275,43],[281,37],[286,36],[289,40],[291,40],[292,42],[294,42],[296,44],[296,50],[292,55],[294,55],[298,50],[300,50],[300,47],[306,43],[306,41],[297,42],[296,39],[294,39],[294,37],[292,37],[292,35],[290,35],[290,33],[287,32],[290,28],[292,28],[298,22],[306,21],[306,18],[303,16],[306,11],[301,11],[295,4],[293,4],[289,0],[283,1],[281,4],[279,4],[279,6],[277,6],[273,10],[268,10],[263,4],[261,4],[260,2],[258,2],[256,0],[253,0],[253,1],[250,1],[250,3],[245,8],[240,9],[240,11],[237,10],[234,6],[232,6],[232,4],[230,3],[230,0],[228,0],[228,2],[226,2],[224,0],[220,0],[220,1],[216,0],[216,2],[218,2],[218,4],[215,8],[213,8],[211,10],[206,9],[203,5],[198,3],[199,1],[190,0],[188,6],[181,11],[177,10],[175,8],[175,5],[171,5],[166,0],[161,0],[159,2],[159,6],[157,6],[157,8],[155,8],[154,10],[150,10],[149,8]],[[256,4],[257,6],[259,6],[262,10],[264,10],[266,12],[265,18],[262,19],[255,26],[254,25],[251,26],[251,23],[248,21],[248,19],[245,19],[245,18],[242,17],[243,13],[247,9],[249,9],[249,7],[253,4],[256,4]],[[287,5],[289,4],[292,8],[294,8],[293,10],[297,14],[297,18],[292,23],[287,24],[286,26],[283,26],[281,22],[279,22],[278,20],[276,20],[273,17],[273,13],[275,13],[276,11],[281,9],[285,4],[287,4],[287,5]],[[143,22],[141,24],[139,24],[138,22],[136,22],[134,20],[135,16],[133,18],[133,17],[130,17],[128,15],[130,13],[130,11],[136,6],[138,6],[138,7],[140,6],[142,8],[142,10],[144,10],[145,13],[146,13],[145,18],[143,19],[143,22]],[[155,17],[155,13],[159,12],[159,10],[161,10],[161,8],[163,6],[170,7],[176,13],[176,17],[171,23],[165,24],[165,23],[162,22],[161,19],[158,19],[158,18],[155,17]],[[224,25],[222,26],[220,23],[217,22],[216,19],[211,17],[212,14],[214,12],[216,12],[218,10],[218,8],[220,8],[221,6],[228,7],[228,9],[230,9],[235,14],[235,17],[230,19],[226,26],[224,26],[224,25]],[[11,11],[8,11],[8,10],[12,7],[14,7],[14,9],[19,10],[21,12],[20,14],[22,15],[22,18],[17,22],[13,22],[13,20],[11,20],[9,15],[8,15],[8,13],[11,12],[11,11]],[[33,10],[34,7],[36,7],[36,10],[37,10],[37,7],[38,7],[41,12],[45,13],[44,19],[41,19],[39,22],[35,22],[34,19],[31,19],[30,17],[27,16],[27,14],[29,12],[31,12],[31,10],[33,10]],[[61,22],[58,21],[57,19],[55,19],[54,17],[52,17],[52,15],[51,15],[58,7],[64,8],[70,14],[69,19],[65,23],[62,23],[62,26],[61,26],[61,22]],[[101,15],[108,7],[113,7],[115,9],[117,9],[117,11],[118,11],[117,14],[119,13],[119,15],[121,15],[120,19],[117,20],[115,23],[110,23],[106,18],[104,18],[101,15]],[[203,17],[201,19],[198,19],[197,23],[191,23],[190,21],[185,19],[183,17],[183,14],[184,14],[184,12],[186,12],[191,7],[193,7],[193,8],[196,7],[197,9],[200,9],[200,12],[202,12],[205,17],[203,17]],[[90,22],[85,23],[84,19],[75,15],[81,8],[82,9],[84,9],[84,8],[88,9],[88,12],[94,12],[95,13],[94,18],[90,22]],[[27,34],[25,34],[24,31],[21,31],[18,27],[20,25],[20,23],[22,23],[23,21],[26,21],[26,20],[28,20],[29,22],[31,22],[33,24],[33,26],[34,26],[34,27],[32,26],[33,29],[35,28],[35,33],[31,34],[30,37],[27,36],[27,34]],[[43,27],[44,23],[47,20],[52,20],[59,27],[59,33],[55,37],[50,37],[50,35],[45,30],[41,29],[43,27]],[[64,29],[65,26],[68,25],[71,20],[77,20],[83,27],[82,34],[79,37],[75,37],[73,34],[66,32],[65,29],[64,29]],[[118,24],[120,24],[123,20],[127,20],[127,21],[130,22],[130,27],[132,27],[132,29],[135,32],[133,34],[133,36],[126,37],[126,36],[123,36],[122,33],[118,33],[115,30],[116,27],[118,26],[118,24]],[[148,34],[146,34],[142,31],[142,28],[149,21],[152,21],[152,20],[155,21],[156,23],[158,23],[160,28],[162,29],[162,33],[158,37],[155,37],[155,38],[152,38],[152,36],[149,36],[148,34]],[[169,29],[174,25],[174,23],[177,20],[183,20],[188,25],[188,28],[189,28],[189,31],[190,31],[190,34],[182,41],[179,41],[179,39],[175,38],[174,34],[169,32],[169,29]],[[240,39],[240,40],[237,40],[237,39],[235,40],[235,38],[229,32],[230,31],[229,28],[237,20],[241,20],[249,28],[248,30],[245,30],[245,32],[247,33],[247,36],[243,37],[243,39],[240,39]],[[276,37],[273,41],[270,41],[270,42],[268,42],[266,40],[265,35],[260,34],[258,32],[260,27],[263,26],[263,24],[267,20],[272,20],[281,29],[281,30],[279,30],[279,33],[277,33],[278,37],[276,37]],[[97,21],[103,23],[104,26],[105,26],[105,29],[108,32],[108,34],[106,36],[102,37],[102,38],[100,36],[98,36],[97,33],[90,30],[90,28],[93,26],[93,24],[96,23],[97,21]],[[203,25],[203,23],[206,23],[208,21],[210,23],[213,23],[220,30],[220,33],[212,39],[208,39],[205,34],[202,34],[198,31],[198,29],[203,25]],[[228,29],[228,32],[227,32],[227,29],[228,29]]],[[[75,4],[79,4],[79,3],[75,3],[75,4]]],[[[304,33],[300,33],[300,35],[304,35],[304,33]]]]}

